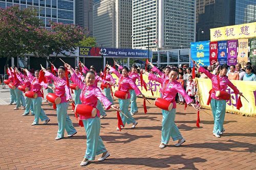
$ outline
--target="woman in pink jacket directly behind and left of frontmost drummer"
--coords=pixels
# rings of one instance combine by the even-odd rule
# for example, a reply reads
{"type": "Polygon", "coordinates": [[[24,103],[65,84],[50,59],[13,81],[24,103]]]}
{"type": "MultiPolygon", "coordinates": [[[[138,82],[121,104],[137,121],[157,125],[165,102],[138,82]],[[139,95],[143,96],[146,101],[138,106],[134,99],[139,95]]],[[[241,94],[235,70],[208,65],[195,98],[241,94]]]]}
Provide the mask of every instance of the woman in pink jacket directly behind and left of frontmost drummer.
{"type": "Polygon", "coordinates": [[[65,129],[68,133],[68,137],[72,137],[76,134],[76,130],[72,124],[71,119],[68,115],[68,101],[72,101],[72,96],[70,94],[70,88],[67,86],[67,81],[65,77],[65,67],[60,66],[58,68],[58,77],[54,76],[51,72],[48,72],[45,68],[42,67],[45,72],[45,76],[49,76],[55,84],[55,87],[48,85],[48,88],[52,88],[54,93],[60,97],[60,104],[56,105],[57,107],[57,119],[58,119],[58,132],[55,140],[62,139],[64,137],[65,129]]]}

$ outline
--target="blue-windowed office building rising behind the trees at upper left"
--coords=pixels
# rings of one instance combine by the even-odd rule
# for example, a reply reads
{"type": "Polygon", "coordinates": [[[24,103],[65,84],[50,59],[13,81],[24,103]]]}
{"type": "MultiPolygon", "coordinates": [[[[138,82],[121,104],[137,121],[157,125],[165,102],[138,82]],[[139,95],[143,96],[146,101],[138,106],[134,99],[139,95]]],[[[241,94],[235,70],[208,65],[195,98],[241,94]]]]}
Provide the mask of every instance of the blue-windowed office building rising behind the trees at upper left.
{"type": "Polygon", "coordinates": [[[0,8],[19,5],[20,9],[33,7],[38,11],[38,18],[44,27],[50,27],[49,22],[75,23],[75,5],[73,0],[0,0],[0,8]]]}

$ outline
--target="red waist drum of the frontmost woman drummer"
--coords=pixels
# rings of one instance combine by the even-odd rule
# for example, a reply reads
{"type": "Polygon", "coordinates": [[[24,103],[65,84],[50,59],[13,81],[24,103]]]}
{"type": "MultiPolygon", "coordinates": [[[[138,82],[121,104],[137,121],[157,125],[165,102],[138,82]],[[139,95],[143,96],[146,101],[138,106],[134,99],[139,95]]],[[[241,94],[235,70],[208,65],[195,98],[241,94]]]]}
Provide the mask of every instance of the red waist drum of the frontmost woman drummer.
{"type": "Polygon", "coordinates": [[[91,117],[95,117],[97,114],[97,109],[89,106],[89,105],[82,105],[82,104],[78,104],[75,107],[75,113],[80,114],[82,116],[91,116],[91,117]]]}

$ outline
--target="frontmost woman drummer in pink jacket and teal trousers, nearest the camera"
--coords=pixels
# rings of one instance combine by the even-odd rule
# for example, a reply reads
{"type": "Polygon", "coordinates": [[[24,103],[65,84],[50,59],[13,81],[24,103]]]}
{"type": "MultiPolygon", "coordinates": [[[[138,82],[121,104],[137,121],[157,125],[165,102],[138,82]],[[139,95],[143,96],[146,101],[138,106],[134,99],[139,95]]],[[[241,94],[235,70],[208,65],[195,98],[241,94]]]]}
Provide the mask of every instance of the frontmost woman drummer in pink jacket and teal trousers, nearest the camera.
{"type": "MultiPolygon", "coordinates": [[[[100,91],[100,89],[95,86],[95,73],[93,71],[87,71],[83,83],[77,76],[74,74],[72,67],[66,63],[65,65],[71,72],[71,80],[76,83],[79,88],[82,90],[80,99],[83,105],[89,105],[94,108],[97,106],[97,100],[100,100],[104,107],[108,110],[110,107],[119,110],[117,106],[113,105],[100,91]]],[[[84,128],[86,129],[87,134],[87,149],[84,159],[80,163],[81,166],[85,166],[89,163],[90,160],[94,160],[96,155],[102,153],[102,156],[98,161],[103,161],[110,156],[109,152],[105,149],[103,141],[99,136],[100,132],[100,118],[99,110],[97,109],[97,115],[95,117],[91,116],[82,116],[80,119],[83,122],[84,128]]]]}

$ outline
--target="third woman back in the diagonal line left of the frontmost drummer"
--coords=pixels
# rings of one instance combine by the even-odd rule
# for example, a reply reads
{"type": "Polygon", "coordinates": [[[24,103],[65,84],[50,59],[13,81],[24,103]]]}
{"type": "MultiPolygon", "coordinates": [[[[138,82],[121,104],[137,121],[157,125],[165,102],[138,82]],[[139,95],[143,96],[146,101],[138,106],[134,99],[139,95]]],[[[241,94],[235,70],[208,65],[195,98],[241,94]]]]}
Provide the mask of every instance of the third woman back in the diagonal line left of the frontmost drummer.
{"type": "Polygon", "coordinates": [[[41,119],[41,121],[45,121],[44,124],[48,124],[50,119],[49,117],[47,117],[45,111],[42,110],[41,108],[41,104],[42,104],[41,87],[43,86],[44,88],[47,88],[47,84],[45,84],[44,81],[39,83],[38,81],[39,70],[35,70],[35,77],[27,69],[25,69],[25,71],[27,72],[28,79],[31,82],[30,90],[37,93],[37,98],[32,99],[35,119],[34,119],[34,122],[31,124],[31,126],[38,125],[39,118],[41,119]]]}

